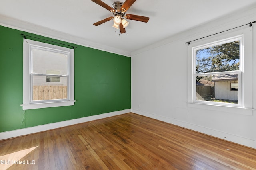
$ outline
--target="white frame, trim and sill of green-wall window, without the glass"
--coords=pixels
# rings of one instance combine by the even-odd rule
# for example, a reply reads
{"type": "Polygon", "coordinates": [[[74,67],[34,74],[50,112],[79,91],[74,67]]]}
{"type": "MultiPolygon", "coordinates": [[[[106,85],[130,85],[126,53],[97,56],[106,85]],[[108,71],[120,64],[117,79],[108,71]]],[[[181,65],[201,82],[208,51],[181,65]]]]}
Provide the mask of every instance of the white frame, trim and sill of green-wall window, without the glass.
{"type": "Polygon", "coordinates": [[[74,49],[42,43],[30,39],[23,39],[23,104],[22,109],[39,109],[48,107],[71,106],[74,105],[74,49]],[[32,50],[40,49],[63,53],[68,55],[68,74],[52,75],[52,74],[35,74],[32,72],[32,50]],[[58,76],[66,77],[67,98],[53,100],[36,100],[33,101],[33,76],[58,76]]]}

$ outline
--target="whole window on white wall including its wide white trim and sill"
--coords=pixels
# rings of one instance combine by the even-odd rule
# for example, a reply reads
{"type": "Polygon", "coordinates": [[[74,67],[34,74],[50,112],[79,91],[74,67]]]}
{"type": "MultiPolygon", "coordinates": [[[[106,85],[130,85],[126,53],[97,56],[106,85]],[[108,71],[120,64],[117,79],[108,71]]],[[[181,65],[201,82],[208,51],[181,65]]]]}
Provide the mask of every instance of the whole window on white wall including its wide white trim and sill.
{"type": "Polygon", "coordinates": [[[252,73],[252,27],[188,45],[188,106],[252,115],[252,73]]]}

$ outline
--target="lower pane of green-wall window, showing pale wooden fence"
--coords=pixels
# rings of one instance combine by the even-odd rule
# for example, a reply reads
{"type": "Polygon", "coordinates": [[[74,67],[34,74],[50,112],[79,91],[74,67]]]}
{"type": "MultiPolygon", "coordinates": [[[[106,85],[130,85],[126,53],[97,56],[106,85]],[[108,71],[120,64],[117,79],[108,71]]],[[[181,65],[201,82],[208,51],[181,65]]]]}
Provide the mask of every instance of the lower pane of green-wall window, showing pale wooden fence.
{"type": "MultiPolygon", "coordinates": [[[[48,76],[33,76],[33,101],[67,99],[67,77],[59,82],[47,82],[48,76]]],[[[52,78],[52,77],[51,77],[52,78]]]]}

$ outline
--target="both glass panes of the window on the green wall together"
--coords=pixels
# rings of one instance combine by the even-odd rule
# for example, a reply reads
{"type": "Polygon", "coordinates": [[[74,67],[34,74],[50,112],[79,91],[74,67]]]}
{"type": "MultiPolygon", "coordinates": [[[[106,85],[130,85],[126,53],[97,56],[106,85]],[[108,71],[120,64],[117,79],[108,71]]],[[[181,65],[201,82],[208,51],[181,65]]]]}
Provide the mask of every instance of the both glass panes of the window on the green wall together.
{"type": "Polygon", "coordinates": [[[68,55],[32,47],[32,101],[67,99],[68,55]],[[46,74],[46,75],[44,75],[46,74]],[[52,76],[47,76],[52,75],[52,76]]]}

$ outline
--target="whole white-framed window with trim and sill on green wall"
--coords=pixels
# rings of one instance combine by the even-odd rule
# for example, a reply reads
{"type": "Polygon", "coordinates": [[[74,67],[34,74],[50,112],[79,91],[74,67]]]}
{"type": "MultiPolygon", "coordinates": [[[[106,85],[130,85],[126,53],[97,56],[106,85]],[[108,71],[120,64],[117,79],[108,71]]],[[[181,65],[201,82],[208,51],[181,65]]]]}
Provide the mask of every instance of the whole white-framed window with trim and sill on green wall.
{"type": "Polygon", "coordinates": [[[74,102],[74,49],[24,39],[23,109],[74,102]]]}

